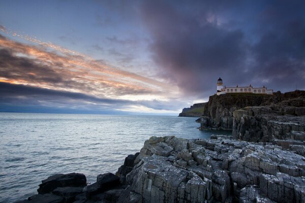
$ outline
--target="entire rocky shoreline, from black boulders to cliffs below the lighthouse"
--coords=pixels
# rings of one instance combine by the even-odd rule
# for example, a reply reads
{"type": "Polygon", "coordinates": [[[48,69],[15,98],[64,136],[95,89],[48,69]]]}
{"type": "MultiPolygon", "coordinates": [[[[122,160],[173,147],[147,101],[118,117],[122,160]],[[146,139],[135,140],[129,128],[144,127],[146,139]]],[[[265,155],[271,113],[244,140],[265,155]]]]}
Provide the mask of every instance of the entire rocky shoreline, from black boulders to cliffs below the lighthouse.
{"type": "Polygon", "coordinates": [[[151,137],[115,175],[54,175],[19,202],[305,202],[305,91],[211,96],[203,108],[202,129],[232,136],[151,137]]]}

